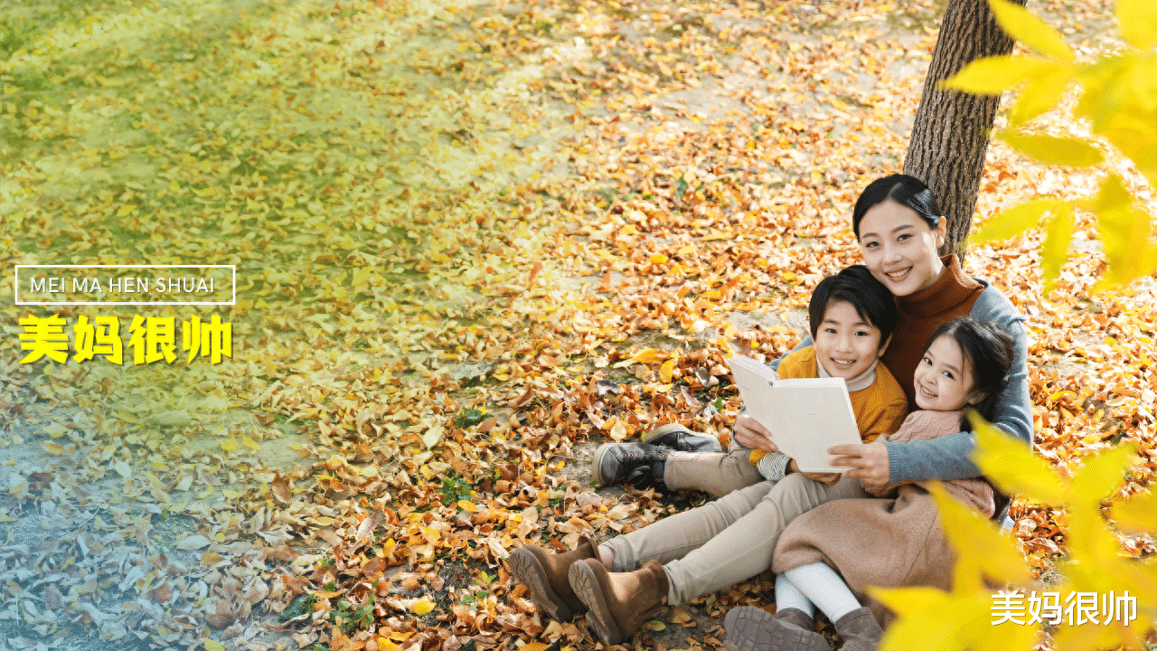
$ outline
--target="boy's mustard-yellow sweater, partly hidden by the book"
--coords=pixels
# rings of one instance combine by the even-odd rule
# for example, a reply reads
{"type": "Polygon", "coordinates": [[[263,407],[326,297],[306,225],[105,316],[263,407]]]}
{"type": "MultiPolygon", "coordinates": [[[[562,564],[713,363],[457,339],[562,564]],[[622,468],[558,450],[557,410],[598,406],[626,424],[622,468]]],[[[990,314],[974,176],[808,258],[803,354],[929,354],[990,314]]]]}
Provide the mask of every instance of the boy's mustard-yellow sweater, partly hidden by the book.
{"type": "MultiPolygon", "coordinates": [[[[815,346],[808,346],[784,357],[778,373],[784,380],[818,378],[817,364],[815,346]]],[[[848,393],[848,397],[864,442],[897,431],[908,415],[908,396],[883,364],[876,365],[876,381],[858,392],[848,393]]],[[[757,463],[766,454],[762,449],[751,451],[751,462],[757,463]]]]}

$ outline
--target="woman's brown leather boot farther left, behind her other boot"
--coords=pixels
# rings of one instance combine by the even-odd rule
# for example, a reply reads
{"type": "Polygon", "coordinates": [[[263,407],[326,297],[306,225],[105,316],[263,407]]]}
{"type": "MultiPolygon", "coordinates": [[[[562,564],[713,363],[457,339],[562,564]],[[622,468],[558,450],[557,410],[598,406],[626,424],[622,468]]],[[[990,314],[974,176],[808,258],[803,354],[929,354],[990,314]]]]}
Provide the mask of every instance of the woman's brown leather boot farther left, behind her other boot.
{"type": "Polygon", "coordinates": [[[514,578],[530,588],[530,600],[539,610],[553,620],[569,621],[575,613],[585,609],[570,590],[568,578],[570,565],[584,558],[598,562],[598,548],[594,540],[578,536],[578,547],[558,554],[537,544],[524,544],[510,554],[507,565],[514,578]]]}

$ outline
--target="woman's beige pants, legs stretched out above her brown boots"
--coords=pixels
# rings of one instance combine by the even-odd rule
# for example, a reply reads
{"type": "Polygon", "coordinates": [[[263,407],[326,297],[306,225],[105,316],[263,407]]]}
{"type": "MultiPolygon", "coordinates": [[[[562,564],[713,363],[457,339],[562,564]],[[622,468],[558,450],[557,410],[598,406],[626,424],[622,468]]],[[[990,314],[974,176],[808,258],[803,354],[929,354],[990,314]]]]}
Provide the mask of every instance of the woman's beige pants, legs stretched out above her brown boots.
{"type": "Polygon", "coordinates": [[[869,497],[860,480],[827,487],[799,474],[760,482],[698,509],[677,513],[600,547],[614,554],[616,572],[655,559],[668,578],[668,604],[686,604],[772,566],[780,533],[799,514],[833,499],[869,497]]]}

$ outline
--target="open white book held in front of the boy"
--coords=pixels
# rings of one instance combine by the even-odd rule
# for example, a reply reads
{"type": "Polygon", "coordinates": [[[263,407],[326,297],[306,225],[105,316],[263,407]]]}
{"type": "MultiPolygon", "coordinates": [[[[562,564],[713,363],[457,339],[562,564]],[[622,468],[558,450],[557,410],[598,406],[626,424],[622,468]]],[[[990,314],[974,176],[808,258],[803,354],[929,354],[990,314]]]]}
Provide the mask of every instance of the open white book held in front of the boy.
{"type": "Polygon", "coordinates": [[[830,466],[833,445],[860,444],[860,429],[843,378],[780,380],[769,366],[736,356],[728,360],[747,415],[772,432],[780,452],[804,473],[842,473],[830,466]]]}

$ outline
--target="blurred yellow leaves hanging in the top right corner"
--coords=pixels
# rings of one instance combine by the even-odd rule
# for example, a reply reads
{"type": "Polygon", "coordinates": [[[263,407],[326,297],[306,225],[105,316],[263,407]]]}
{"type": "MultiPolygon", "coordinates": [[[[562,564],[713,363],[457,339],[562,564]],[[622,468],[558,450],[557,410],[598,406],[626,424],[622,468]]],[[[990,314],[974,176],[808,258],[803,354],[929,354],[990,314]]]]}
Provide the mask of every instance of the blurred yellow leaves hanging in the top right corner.
{"type": "MultiPolygon", "coordinates": [[[[1067,89],[1076,83],[1079,100],[1068,117],[1085,120],[1092,136],[1107,142],[1133,162],[1150,184],[1157,184],[1157,8],[1148,0],[1118,3],[1121,36],[1136,50],[1107,52],[1092,63],[1077,65],[1064,39],[1023,7],[1005,0],[989,0],[1001,27],[1040,57],[989,57],[971,63],[945,88],[967,93],[998,94],[1023,85],[1009,114],[1012,126],[998,137],[1019,153],[1048,164],[1068,167],[1106,166],[1100,146],[1091,141],[1025,131],[1036,117],[1061,104],[1067,89]]],[[[1096,287],[1125,285],[1157,269],[1157,242],[1152,240],[1152,215],[1135,200],[1128,186],[1106,174],[1100,196],[1083,199],[1041,198],[1007,210],[985,224],[974,242],[1012,237],[1040,222],[1045,210],[1056,215],[1048,224],[1041,247],[1046,292],[1060,275],[1076,219],[1074,212],[1091,212],[1098,220],[1108,265],[1096,287]],[[1108,192],[1112,202],[1103,196],[1108,192]],[[1059,204],[1064,204],[1063,210],[1059,204]],[[989,226],[992,224],[992,226],[989,226]]]]}

